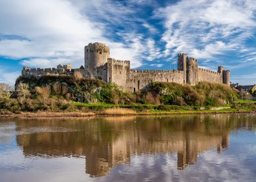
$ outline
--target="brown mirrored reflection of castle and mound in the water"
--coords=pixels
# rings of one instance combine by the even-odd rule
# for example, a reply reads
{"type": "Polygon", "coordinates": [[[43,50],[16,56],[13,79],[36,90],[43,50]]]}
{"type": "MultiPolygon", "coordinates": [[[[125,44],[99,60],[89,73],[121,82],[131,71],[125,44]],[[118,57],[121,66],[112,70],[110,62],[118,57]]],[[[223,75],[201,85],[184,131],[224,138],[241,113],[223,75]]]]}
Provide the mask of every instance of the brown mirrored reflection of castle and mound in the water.
{"type": "MultiPolygon", "coordinates": [[[[253,128],[253,121],[238,115],[127,116],[88,120],[22,120],[17,131],[33,127],[62,127],[68,132],[17,136],[24,155],[86,156],[86,173],[104,176],[135,153],[177,153],[178,169],[197,161],[212,148],[229,148],[229,134],[236,126],[253,128]],[[135,122],[136,121],[136,122],[135,122]]],[[[47,131],[47,129],[46,129],[47,131]]],[[[60,129],[61,131],[61,129],[60,129]]]]}

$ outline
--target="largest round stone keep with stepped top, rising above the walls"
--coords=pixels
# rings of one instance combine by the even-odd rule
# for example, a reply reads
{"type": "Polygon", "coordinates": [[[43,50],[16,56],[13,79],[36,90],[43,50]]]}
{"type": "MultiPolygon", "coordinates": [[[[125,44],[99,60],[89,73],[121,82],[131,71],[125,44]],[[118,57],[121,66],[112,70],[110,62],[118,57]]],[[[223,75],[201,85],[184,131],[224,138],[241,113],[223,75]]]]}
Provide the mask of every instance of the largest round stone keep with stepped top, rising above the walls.
{"type": "Polygon", "coordinates": [[[110,49],[103,43],[90,43],[84,47],[84,68],[103,66],[110,57],[110,49]]]}

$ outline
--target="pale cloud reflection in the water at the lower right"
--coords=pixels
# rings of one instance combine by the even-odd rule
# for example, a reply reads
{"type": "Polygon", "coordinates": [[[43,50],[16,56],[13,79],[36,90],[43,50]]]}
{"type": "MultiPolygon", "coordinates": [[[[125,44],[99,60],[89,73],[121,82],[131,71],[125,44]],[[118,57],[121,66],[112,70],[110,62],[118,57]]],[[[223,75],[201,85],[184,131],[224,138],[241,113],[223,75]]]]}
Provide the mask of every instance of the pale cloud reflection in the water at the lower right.
{"type": "MultiPolygon", "coordinates": [[[[116,166],[104,178],[105,181],[251,181],[256,177],[255,166],[244,165],[237,160],[242,153],[223,151],[221,155],[216,149],[199,155],[199,160],[186,170],[177,170],[176,155],[160,156],[139,155],[131,157],[131,164],[116,166]],[[125,173],[123,173],[125,172],[125,173]],[[140,180],[138,180],[140,179],[140,180]]],[[[104,181],[95,180],[95,181],[104,181]]]]}

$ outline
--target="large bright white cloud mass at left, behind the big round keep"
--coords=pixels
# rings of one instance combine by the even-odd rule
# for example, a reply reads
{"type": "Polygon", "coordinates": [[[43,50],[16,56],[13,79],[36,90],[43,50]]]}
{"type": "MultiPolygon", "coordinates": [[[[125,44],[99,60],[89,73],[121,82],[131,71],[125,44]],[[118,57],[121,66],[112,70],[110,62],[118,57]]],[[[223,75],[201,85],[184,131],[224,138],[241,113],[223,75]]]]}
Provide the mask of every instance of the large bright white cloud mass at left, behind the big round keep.
{"type": "MultiPolygon", "coordinates": [[[[105,38],[104,25],[89,19],[79,6],[81,3],[83,1],[0,1],[0,36],[19,36],[19,39],[0,40],[0,55],[25,58],[22,64],[32,67],[52,67],[59,61],[78,66],[84,62],[84,45],[104,42],[110,46],[112,57],[131,60],[133,67],[139,66],[142,58],[138,51],[134,53],[134,46],[105,38]]],[[[99,4],[101,1],[86,1],[88,5],[93,3],[103,6],[99,4]]],[[[120,5],[112,6],[114,10],[117,13],[129,12],[120,9],[120,5]]]]}

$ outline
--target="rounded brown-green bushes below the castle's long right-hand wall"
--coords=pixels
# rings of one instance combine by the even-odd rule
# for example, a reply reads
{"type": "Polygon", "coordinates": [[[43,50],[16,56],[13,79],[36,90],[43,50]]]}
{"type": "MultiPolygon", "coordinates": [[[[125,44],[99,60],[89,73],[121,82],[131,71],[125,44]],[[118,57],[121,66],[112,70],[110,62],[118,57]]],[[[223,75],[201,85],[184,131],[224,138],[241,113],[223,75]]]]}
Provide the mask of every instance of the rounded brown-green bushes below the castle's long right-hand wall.
{"type": "Polygon", "coordinates": [[[234,103],[238,99],[238,92],[227,85],[217,83],[202,82],[190,86],[155,82],[142,90],[140,98],[144,103],[216,106],[234,103]]]}

